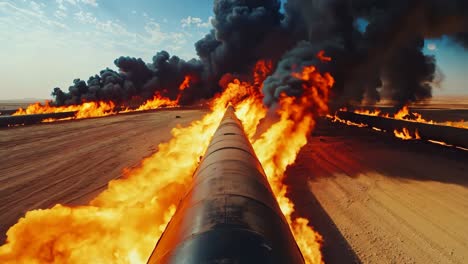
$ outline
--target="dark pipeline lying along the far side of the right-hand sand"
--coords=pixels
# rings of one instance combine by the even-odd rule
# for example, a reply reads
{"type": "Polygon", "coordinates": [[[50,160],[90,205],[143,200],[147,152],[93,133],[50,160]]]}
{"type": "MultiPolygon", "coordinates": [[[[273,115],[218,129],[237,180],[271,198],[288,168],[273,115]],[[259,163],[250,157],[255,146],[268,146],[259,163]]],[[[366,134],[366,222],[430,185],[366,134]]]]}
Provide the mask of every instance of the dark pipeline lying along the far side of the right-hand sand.
{"type": "Polygon", "coordinates": [[[366,124],[369,127],[376,127],[389,133],[406,128],[410,131],[418,131],[422,140],[441,141],[453,146],[468,148],[468,129],[361,115],[345,111],[339,111],[336,115],[340,119],[357,124],[366,124]]]}

